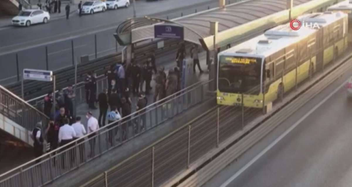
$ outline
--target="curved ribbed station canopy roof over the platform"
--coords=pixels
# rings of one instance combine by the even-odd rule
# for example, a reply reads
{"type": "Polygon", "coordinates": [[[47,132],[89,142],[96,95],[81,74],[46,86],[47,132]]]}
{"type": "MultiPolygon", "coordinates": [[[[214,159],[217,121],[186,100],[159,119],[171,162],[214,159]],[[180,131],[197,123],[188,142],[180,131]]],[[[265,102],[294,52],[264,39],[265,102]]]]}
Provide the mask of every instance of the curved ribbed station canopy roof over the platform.
{"type": "MultiPolygon", "coordinates": [[[[294,0],[293,6],[309,1],[312,0],[294,0]]],[[[155,38],[154,26],[156,24],[172,24],[183,27],[185,41],[201,44],[209,49],[207,43],[212,40],[210,21],[219,22],[218,32],[220,33],[285,9],[287,9],[287,0],[247,0],[227,5],[225,8],[213,8],[172,20],[151,17],[131,18],[118,26],[114,36],[120,45],[129,45],[155,38]]],[[[275,23],[275,20],[270,21],[275,23]]],[[[251,28],[247,27],[246,29],[250,30],[251,28]]],[[[253,29],[255,29],[255,25],[253,25],[253,29]]]]}

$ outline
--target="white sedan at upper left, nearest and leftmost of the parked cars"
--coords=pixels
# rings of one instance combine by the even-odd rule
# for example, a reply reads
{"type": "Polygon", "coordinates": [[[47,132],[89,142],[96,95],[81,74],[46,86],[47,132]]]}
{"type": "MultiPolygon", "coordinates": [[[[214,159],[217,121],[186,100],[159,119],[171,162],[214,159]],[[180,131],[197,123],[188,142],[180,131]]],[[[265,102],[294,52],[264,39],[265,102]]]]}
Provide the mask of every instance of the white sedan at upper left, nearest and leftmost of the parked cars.
{"type": "Polygon", "coordinates": [[[38,9],[26,9],[21,11],[16,17],[12,18],[12,25],[31,26],[32,24],[44,23],[50,20],[48,12],[38,9]]]}

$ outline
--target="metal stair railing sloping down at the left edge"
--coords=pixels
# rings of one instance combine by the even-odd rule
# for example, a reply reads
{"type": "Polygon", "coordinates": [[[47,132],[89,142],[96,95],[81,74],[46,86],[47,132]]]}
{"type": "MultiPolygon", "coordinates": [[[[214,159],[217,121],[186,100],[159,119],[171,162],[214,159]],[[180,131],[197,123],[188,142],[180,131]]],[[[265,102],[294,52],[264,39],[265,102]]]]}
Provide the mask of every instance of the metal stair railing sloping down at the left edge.
{"type": "Polygon", "coordinates": [[[32,130],[38,122],[42,122],[44,126],[49,120],[45,114],[1,85],[0,113],[27,130],[32,130]]]}

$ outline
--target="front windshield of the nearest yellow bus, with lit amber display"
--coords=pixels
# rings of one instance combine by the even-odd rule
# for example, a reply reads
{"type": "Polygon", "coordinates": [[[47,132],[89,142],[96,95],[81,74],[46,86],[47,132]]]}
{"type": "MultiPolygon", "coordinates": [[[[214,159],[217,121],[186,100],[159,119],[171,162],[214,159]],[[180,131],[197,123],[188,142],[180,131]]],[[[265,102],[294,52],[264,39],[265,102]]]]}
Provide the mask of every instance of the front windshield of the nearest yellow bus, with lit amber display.
{"type": "Polygon", "coordinates": [[[261,62],[261,58],[220,56],[219,91],[258,95],[261,62]]]}

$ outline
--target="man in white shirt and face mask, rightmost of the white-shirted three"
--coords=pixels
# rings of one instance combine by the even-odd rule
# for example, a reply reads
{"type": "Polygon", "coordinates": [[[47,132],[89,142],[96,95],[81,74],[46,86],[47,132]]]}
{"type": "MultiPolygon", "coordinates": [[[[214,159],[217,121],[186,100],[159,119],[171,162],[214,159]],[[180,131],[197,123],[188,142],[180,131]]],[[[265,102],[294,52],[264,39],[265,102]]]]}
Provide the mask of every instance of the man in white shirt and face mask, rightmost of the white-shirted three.
{"type": "Polygon", "coordinates": [[[96,135],[96,131],[99,130],[99,123],[98,120],[93,116],[92,112],[87,112],[86,115],[88,122],[87,122],[87,132],[88,132],[88,138],[90,138],[89,140],[89,144],[90,144],[90,157],[94,156],[94,150],[95,150],[95,135],[96,135]]]}

